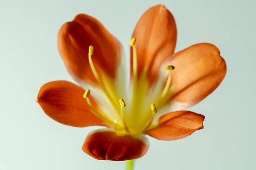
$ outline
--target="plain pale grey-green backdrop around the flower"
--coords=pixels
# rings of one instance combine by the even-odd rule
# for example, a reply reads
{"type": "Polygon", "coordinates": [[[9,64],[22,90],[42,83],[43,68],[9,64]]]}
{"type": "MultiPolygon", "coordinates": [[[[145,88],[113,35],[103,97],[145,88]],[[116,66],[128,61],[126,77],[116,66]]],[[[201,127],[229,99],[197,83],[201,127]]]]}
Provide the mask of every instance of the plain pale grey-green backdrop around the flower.
{"type": "Polygon", "coordinates": [[[219,88],[190,111],[204,130],[177,141],[150,138],[135,170],[253,170],[256,112],[255,0],[0,0],[0,170],[124,170],[81,150],[87,134],[50,119],[35,103],[46,82],[69,80],[57,50],[61,25],[76,14],[96,17],[124,45],[137,20],[164,4],[175,17],[176,51],[215,44],[227,62],[219,88]]]}

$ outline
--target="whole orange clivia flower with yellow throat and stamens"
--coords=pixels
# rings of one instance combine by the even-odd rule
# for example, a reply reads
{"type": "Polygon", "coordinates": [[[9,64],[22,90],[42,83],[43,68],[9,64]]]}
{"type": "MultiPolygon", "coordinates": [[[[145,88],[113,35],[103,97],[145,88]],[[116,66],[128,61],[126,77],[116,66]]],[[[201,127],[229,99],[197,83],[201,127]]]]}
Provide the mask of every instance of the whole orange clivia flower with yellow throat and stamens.
{"type": "Polygon", "coordinates": [[[140,158],[149,147],[145,135],[177,140],[202,129],[204,116],[183,110],[211,94],[227,71],[215,45],[174,53],[176,40],[171,12],[163,5],[149,8],[134,29],[129,64],[102,23],[79,14],[59,30],[58,51],[80,87],[48,82],[36,101],[64,125],[108,127],[91,132],[82,145],[93,158],[140,158]]]}

